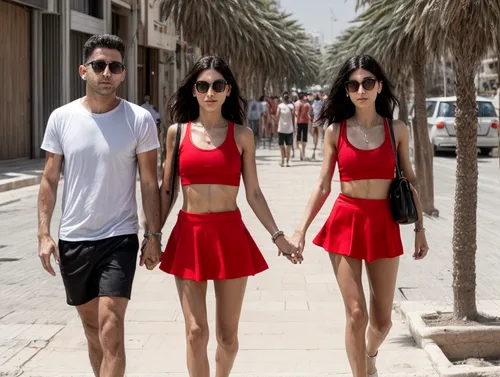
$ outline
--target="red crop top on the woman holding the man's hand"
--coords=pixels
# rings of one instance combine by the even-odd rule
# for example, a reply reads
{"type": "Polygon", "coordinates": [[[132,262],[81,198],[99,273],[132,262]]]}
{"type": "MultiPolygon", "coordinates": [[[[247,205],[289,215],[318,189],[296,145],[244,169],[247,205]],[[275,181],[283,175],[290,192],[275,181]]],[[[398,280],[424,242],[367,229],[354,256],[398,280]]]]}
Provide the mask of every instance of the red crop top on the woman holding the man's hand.
{"type": "Polygon", "coordinates": [[[181,185],[218,184],[239,186],[241,154],[234,139],[234,123],[228,122],[224,142],[214,149],[201,149],[191,140],[191,122],[179,147],[181,185]]]}

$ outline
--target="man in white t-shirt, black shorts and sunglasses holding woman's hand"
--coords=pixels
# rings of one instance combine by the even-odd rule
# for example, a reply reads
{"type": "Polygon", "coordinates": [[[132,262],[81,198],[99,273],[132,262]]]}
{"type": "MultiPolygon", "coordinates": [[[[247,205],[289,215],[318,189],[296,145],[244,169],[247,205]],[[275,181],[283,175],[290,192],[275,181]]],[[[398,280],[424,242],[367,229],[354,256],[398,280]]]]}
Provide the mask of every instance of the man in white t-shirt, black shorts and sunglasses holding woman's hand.
{"type": "Polygon", "coordinates": [[[94,35],[79,68],[86,95],[50,115],[42,143],[45,169],[38,198],[38,252],[47,272],[60,266],[69,305],[87,337],[90,363],[100,377],[125,374],[124,317],[139,251],[137,167],[149,241],[140,265],[161,256],[160,193],[155,121],[140,106],[116,97],[125,78],[125,45],[114,35],[94,35]],[[64,160],[59,244],[50,233],[64,160]]]}

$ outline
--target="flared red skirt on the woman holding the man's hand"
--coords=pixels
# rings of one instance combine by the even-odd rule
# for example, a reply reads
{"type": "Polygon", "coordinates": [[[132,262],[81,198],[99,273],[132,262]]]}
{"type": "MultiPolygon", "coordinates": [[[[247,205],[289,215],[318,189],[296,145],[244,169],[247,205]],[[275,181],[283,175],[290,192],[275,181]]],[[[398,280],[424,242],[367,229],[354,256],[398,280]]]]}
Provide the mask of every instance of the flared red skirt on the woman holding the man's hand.
{"type": "Polygon", "coordinates": [[[160,269],[195,281],[236,279],[268,268],[239,210],[179,211],[160,269]]]}

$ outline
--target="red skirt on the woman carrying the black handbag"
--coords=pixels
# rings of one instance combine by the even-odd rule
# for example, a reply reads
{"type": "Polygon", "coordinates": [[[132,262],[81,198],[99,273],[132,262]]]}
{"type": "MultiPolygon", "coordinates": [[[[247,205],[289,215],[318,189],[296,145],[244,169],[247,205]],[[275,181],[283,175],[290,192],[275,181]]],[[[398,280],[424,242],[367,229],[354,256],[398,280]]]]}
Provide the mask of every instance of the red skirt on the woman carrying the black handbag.
{"type": "Polygon", "coordinates": [[[330,253],[367,262],[403,254],[399,225],[392,219],[387,199],[340,194],[313,243],[330,253]]]}

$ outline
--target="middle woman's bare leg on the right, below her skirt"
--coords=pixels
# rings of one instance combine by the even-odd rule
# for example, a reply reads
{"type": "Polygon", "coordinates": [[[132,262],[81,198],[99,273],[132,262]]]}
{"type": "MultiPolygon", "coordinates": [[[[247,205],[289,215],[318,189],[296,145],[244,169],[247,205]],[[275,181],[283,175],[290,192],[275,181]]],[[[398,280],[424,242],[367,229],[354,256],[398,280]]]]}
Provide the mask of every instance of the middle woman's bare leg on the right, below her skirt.
{"type": "Polygon", "coordinates": [[[247,279],[215,280],[217,352],[215,376],[229,377],[238,352],[238,324],[247,279]]]}

